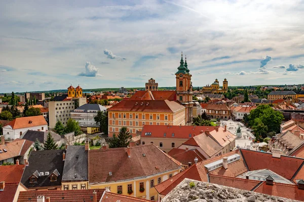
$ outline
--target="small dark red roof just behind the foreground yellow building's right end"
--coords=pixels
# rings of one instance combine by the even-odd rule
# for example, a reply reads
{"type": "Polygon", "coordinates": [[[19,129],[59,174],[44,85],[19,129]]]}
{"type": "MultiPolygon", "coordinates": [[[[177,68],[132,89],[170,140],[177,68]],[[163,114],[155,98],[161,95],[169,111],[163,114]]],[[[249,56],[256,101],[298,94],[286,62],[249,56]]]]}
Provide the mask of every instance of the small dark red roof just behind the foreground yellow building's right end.
{"type": "Polygon", "coordinates": [[[197,149],[185,150],[181,148],[173,148],[168,152],[168,155],[182,163],[188,165],[189,162],[195,164],[194,159],[198,158],[198,162],[206,160],[197,149]]]}

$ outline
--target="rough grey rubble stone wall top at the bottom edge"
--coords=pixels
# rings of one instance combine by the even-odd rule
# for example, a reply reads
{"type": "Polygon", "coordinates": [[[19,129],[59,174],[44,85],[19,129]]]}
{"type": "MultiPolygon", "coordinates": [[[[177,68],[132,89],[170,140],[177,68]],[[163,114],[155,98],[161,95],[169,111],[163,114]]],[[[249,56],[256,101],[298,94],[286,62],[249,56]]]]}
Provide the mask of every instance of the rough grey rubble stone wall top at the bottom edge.
{"type": "Polygon", "coordinates": [[[252,191],[236,189],[208,182],[201,182],[191,179],[184,179],[177,185],[162,202],[295,202],[287,198],[271,196],[252,191]],[[190,187],[190,182],[194,182],[195,186],[190,187]]]}

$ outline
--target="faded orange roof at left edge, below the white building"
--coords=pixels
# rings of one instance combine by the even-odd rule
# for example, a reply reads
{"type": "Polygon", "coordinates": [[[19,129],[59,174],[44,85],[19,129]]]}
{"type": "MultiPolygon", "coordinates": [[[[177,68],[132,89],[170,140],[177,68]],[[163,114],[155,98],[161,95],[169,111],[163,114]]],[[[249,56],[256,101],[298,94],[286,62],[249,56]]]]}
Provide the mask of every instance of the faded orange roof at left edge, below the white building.
{"type": "Polygon", "coordinates": [[[2,151],[2,153],[0,152],[0,161],[23,156],[33,143],[26,139],[17,138],[12,142],[0,144],[0,150],[2,151]]]}

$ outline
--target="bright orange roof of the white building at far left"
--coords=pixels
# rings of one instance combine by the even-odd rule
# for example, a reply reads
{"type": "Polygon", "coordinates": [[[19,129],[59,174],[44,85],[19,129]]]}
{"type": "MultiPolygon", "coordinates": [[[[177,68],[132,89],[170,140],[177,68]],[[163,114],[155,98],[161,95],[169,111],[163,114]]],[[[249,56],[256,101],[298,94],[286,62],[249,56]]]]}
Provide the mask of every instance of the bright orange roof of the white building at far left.
{"type": "Polygon", "coordinates": [[[4,127],[12,127],[13,129],[19,128],[30,128],[35,126],[44,126],[48,125],[45,118],[41,116],[32,116],[32,117],[20,117],[16,118],[13,121],[7,123],[4,127]]]}

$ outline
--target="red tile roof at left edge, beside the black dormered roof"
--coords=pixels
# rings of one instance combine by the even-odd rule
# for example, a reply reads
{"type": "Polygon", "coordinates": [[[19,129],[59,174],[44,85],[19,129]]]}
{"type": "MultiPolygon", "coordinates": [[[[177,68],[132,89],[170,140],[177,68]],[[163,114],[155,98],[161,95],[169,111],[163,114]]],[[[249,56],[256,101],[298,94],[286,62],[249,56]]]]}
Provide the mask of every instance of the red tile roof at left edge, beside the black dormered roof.
{"type": "Polygon", "coordinates": [[[0,166],[0,182],[19,183],[24,167],[25,165],[0,166]]]}

